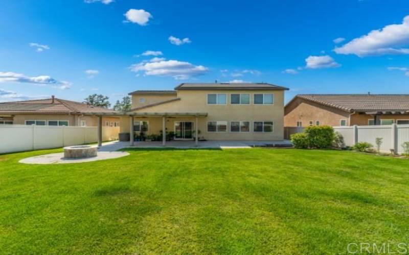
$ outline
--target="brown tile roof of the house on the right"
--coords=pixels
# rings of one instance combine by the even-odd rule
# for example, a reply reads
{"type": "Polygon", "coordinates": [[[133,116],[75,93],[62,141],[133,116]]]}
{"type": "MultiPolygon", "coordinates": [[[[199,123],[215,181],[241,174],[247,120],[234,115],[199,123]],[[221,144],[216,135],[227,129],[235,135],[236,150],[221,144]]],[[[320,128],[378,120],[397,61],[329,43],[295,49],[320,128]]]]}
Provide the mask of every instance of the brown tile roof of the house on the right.
{"type": "Polygon", "coordinates": [[[297,97],[348,112],[409,111],[409,94],[300,94],[294,98],[297,97]]]}

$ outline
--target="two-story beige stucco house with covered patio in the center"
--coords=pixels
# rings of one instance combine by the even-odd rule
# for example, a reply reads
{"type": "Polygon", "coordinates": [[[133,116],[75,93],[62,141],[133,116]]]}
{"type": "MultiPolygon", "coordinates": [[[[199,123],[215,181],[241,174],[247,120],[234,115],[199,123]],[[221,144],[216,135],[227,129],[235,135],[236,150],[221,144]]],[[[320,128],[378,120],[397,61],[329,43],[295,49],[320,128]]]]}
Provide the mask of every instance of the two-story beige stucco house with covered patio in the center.
{"type": "Polygon", "coordinates": [[[170,91],[137,90],[129,93],[132,109],[121,118],[121,133],[159,135],[165,126],[176,140],[283,140],[284,90],[267,83],[183,83],[170,91]]]}

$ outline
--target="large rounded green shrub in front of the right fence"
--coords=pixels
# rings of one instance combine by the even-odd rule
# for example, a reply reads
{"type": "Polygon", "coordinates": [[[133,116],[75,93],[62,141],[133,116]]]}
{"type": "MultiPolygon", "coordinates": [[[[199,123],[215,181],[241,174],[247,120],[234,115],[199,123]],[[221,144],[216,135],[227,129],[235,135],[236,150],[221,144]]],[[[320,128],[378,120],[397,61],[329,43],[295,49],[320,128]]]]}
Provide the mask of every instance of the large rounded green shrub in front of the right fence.
{"type": "Polygon", "coordinates": [[[310,148],[330,148],[335,138],[334,129],[327,125],[308,126],[304,133],[310,148]]]}

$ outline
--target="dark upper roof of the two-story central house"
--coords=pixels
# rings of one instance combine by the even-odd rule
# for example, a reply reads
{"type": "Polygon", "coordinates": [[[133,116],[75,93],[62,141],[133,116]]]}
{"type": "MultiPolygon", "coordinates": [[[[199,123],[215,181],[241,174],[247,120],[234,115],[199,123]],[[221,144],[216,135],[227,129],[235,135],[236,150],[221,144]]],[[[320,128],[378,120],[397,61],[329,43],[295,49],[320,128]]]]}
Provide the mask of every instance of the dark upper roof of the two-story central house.
{"type": "Polygon", "coordinates": [[[175,90],[288,90],[269,83],[182,83],[175,90]]]}

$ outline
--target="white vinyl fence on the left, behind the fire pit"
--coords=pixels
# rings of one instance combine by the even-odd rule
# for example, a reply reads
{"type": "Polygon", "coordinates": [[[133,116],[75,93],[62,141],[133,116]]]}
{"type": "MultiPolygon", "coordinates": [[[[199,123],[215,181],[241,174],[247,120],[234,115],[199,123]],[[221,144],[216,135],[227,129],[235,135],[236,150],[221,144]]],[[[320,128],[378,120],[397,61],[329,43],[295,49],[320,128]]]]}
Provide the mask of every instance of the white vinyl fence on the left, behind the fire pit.
{"type": "MultiPolygon", "coordinates": [[[[103,126],[102,140],[117,140],[119,127],[103,126]]],[[[97,142],[96,126],[0,124],[0,154],[97,142]]]]}

